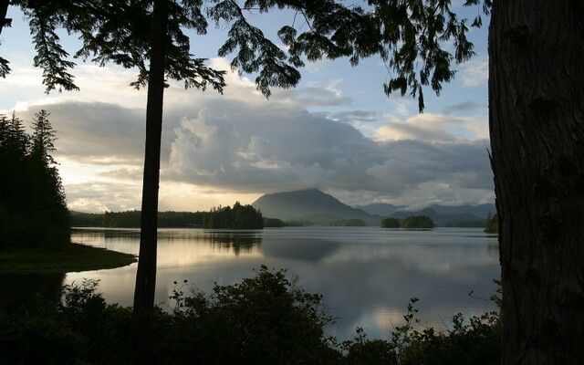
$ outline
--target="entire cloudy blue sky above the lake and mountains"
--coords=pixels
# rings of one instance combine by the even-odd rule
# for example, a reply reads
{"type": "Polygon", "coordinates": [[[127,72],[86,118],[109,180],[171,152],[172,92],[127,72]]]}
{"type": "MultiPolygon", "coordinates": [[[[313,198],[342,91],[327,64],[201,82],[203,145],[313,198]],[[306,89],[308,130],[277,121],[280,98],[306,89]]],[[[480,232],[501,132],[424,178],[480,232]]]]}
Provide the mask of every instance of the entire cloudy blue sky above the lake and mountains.
{"type": "MultiPolygon", "coordinates": [[[[470,19],[477,13],[455,10],[470,19]]],[[[26,125],[38,110],[50,113],[70,209],[140,209],[146,91],[129,86],[137,71],[75,59],[80,91],[47,95],[26,21],[15,6],[8,17],[13,26],[2,31],[0,52],[12,72],[0,78],[0,113],[14,111],[26,125]]],[[[292,20],[250,16],[274,39],[277,26],[292,20]]],[[[60,35],[75,53],[75,36],[60,35]]],[[[217,57],[224,30],[211,25],[206,36],[193,36],[192,52],[227,70],[227,87],[223,95],[178,82],[165,90],[159,210],[203,211],[307,188],[349,205],[494,203],[486,27],[469,37],[476,55],[455,66],[439,97],[424,90],[421,114],[416,99],[383,93],[391,74],[379,57],[358,67],[347,59],[307,64],[297,88],[272,89],[266,99],[254,76],[238,75],[229,57],[217,57]]]]}

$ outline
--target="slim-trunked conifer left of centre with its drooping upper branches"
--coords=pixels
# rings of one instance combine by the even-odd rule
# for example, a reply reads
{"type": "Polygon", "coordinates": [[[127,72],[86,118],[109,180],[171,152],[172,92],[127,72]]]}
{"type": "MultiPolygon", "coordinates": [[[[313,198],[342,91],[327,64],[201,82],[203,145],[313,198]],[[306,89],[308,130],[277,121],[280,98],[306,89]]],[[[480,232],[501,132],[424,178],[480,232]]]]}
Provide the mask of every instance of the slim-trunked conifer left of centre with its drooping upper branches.
{"type": "MultiPolygon", "coordinates": [[[[302,61],[294,55],[287,57],[286,52],[267,39],[260,29],[248,23],[244,8],[266,12],[287,6],[307,19],[323,11],[341,12],[344,16],[353,12],[332,0],[317,4],[307,2],[310,6],[303,1],[275,0],[248,0],[243,6],[235,0],[209,3],[209,18],[217,25],[223,21],[230,25],[219,55],[235,53],[233,68],[257,72],[257,89],[266,97],[271,87],[295,86],[300,78],[296,68],[302,66],[302,61]]],[[[203,15],[203,0],[16,0],[13,4],[19,5],[29,20],[37,52],[34,64],[43,68],[47,92],[57,87],[78,89],[68,73],[74,63],[68,60],[68,52],[59,44],[56,33],[59,26],[80,36],[83,45],[76,57],[91,58],[100,65],[114,62],[125,68],[138,68],[138,78],[131,85],[135,88],[148,86],[141,245],[134,311],[150,310],[154,305],[156,283],[158,185],[166,79],[184,81],[186,88],[205,89],[211,85],[219,92],[225,86],[223,71],[206,67],[203,58],[190,54],[190,39],[184,33],[184,29],[193,29],[200,35],[206,32],[208,24],[203,15]]],[[[359,7],[356,14],[362,14],[359,7]]]]}

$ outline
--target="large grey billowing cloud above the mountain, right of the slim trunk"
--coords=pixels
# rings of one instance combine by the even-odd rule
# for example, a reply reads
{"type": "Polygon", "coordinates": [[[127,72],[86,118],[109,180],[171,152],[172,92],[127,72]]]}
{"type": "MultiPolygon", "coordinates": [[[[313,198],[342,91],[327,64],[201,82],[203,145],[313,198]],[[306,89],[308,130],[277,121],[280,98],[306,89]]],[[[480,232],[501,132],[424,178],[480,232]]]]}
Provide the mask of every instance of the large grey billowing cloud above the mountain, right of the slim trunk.
{"type": "Polygon", "coordinates": [[[319,187],[412,200],[415,193],[420,199],[421,189],[470,190],[480,199],[492,195],[488,141],[465,126],[476,121],[446,120],[428,116],[413,123],[410,139],[373,141],[339,120],[277,102],[260,110],[235,101],[220,108],[208,104],[174,130],[163,176],[246,193],[319,187]],[[451,128],[453,123],[463,131],[451,128]]]}

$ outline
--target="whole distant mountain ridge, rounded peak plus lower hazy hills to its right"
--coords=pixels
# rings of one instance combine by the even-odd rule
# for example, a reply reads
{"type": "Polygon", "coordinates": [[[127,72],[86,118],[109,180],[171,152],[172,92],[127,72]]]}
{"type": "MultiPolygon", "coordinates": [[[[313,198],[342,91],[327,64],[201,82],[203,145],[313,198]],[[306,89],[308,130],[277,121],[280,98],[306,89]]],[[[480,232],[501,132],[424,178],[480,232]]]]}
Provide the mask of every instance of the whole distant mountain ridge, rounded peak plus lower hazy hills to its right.
{"type": "Polygon", "coordinates": [[[334,196],[318,189],[284,193],[267,193],[252,203],[255,209],[270,218],[283,221],[309,221],[328,225],[345,219],[361,219],[368,225],[380,225],[387,216],[403,219],[408,215],[428,215],[437,225],[474,221],[480,226],[486,214],[495,214],[495,204],[445,206],[430,205],[419,211],[406,211],[403,206],[375,203],[351,207],[339,202],[334,196]]]}

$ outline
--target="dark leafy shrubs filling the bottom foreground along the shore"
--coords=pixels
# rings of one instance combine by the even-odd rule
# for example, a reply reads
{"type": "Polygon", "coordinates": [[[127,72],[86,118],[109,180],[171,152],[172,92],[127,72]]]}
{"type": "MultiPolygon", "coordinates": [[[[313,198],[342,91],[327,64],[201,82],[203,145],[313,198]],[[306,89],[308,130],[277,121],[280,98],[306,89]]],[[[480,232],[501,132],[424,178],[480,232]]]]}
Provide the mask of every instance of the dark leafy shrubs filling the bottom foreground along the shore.
{"type": "MultiPolygon", "coordinates": [[[[405,322],[388,339],[329,336],[323,297],[298,286],[284,270],[262,266],[255,277],[214,287],[210,295],[175,283],[172,310],[156,308],[155,333],[140,349],[152,363],[177,364],[496,364],[501,323],[497,313],[452,318],[450,328],[421,327],[412,299],[405,322]]],[[[132,364],[131,308],[109,305],[86,280],[64,287],[59,303],[0,312],[0,359],[7,363],[132,364]]],[[[138,324],[138,326],[141,326],[138,324]]],[[[142,354],[143,355],[143,354],[142,354]]]]}

